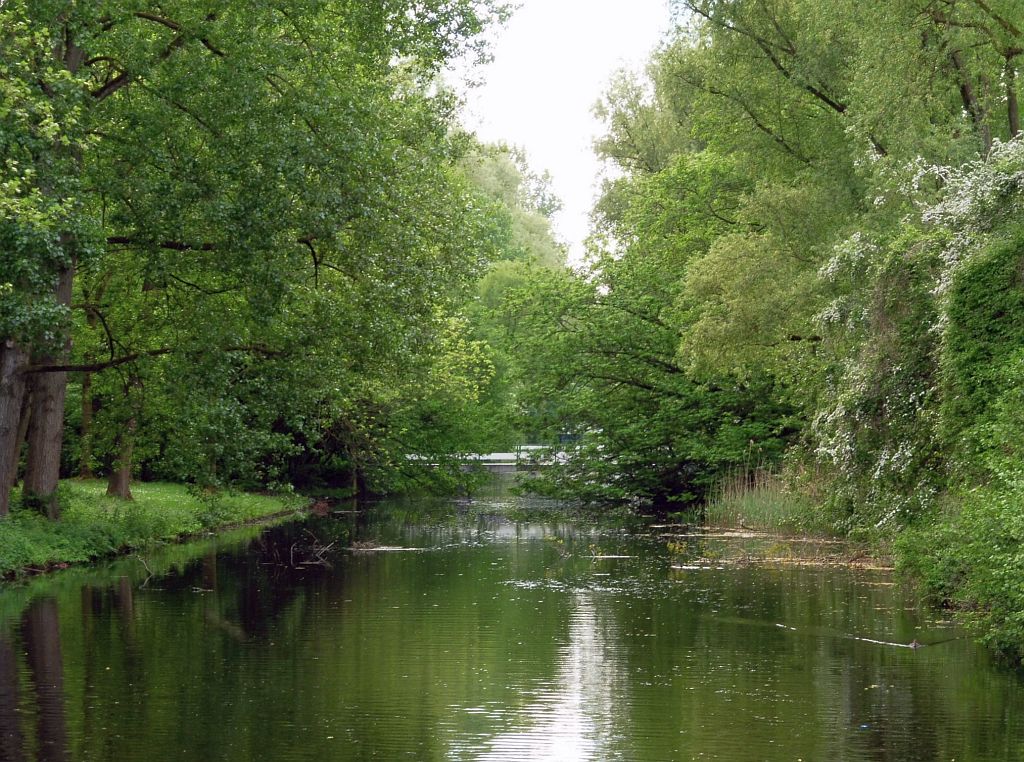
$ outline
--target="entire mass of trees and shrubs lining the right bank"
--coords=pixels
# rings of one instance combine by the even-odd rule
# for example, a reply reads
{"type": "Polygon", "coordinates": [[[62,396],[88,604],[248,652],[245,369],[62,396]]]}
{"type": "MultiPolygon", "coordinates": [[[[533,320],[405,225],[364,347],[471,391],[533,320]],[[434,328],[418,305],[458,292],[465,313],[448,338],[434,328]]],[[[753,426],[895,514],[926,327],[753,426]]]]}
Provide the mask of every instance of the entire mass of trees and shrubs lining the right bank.
{"type": "Polygon", "coordinates": [[[539,486],[685,506],[773,470],[1019,659],[1024,8],[674,7],[599,105],[588,265],[508,305],[571,455],[539,486]]]}

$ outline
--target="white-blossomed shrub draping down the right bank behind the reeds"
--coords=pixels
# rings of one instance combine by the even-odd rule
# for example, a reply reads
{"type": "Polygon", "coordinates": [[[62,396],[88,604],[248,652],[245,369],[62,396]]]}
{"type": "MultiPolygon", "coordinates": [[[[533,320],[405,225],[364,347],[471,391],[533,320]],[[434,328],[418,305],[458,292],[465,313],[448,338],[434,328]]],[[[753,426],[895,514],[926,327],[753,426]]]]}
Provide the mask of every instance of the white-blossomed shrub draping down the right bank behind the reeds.
{"type": "Polygon", "coordinates": [[[986,411],[1017,398],[998,369],[1024,346],[1024,140],[900,176],[890,193],[914,213],[849,236],[818,271],[835,362],[811,435],[848,530],[907,523],[971,470],[964,462],[987,468],[982,451],[1006,452],[992,432],[1013,429],[986,411]]]}

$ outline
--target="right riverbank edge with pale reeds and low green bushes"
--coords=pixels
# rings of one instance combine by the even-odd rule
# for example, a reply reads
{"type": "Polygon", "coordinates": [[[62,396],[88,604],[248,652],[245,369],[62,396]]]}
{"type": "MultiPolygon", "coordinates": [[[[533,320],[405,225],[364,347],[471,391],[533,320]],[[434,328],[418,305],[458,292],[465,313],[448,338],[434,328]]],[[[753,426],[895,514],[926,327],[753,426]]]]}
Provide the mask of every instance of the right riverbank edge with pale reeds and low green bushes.
{"type": "Polygon", "coordinates": [[[840,524],[811,496],[788,489],[778,475],[758,471],[724,480],[705,519],[732,533],[778,536],[754,552],[744,548],[728,562],[894,568],[923,601],[952,611],[1000,659],[1024,664],[1024,489],[1019,482],[991,485],[949,494],[936,504],[896,532],[842,537],[840,524]],[[831,552],[829,542],[838,540],[843,550],[831,552]]]}

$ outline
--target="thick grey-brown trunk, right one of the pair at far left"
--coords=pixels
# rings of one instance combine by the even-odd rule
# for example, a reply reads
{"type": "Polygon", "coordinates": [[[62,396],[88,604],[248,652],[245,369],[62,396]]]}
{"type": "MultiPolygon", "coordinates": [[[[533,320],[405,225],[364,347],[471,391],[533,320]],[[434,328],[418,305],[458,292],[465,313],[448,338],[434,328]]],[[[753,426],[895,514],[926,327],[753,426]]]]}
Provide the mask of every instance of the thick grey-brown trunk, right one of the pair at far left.
{"type": "MultiPolygon", "coordinates": [[[[61,239],[65,237],[61,236],[61,239]]],[[[60,271],[57,300],[71,306],[74,265],[60,271]]],[[[71,349],[69,336],[59,357],[43,357],[50,363],[63,359],[71,349]]],[[[68,374],[63,371],[40,373],[33,383],[32,420],[29,422],[29,456],[25,470],[25,497],[44,509],[51,519],[60,517],[57,482],[60,479],[60,447],[63,441],[63,406],[68,392],[68,374]]]]}

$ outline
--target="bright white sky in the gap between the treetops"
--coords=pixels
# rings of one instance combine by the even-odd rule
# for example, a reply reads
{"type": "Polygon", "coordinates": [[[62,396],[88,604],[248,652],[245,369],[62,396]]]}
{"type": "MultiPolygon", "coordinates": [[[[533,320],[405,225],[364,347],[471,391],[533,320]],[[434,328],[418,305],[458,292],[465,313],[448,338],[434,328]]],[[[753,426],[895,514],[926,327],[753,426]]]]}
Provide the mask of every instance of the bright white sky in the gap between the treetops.
{"type": "Polygon", "coordinates": [[[519,0],[493,33],[494,61],[464,91],[463,123],[485,142],[525,150],[534,171],[552,175],[562,211],[555,232],[583,259],[589,214],[599,189],[591,110],[620,69],[642,71],[670,29],[668,0],[519,0]]]}

